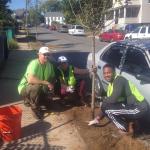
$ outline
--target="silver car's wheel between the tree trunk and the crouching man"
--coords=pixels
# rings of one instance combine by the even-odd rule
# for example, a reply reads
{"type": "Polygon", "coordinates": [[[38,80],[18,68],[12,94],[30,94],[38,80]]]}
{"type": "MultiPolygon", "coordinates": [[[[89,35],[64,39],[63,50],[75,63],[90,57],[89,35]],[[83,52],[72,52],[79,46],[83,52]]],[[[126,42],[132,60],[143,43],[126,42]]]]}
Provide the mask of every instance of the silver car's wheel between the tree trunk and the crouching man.
{"type": "Polygon", "coordinates": [[[100,99],[100,97],[102,96],[102,92],[103,92],[102,83],[101,83],[98,75],[96,75],[95,76],[95,97],[96,97],[96,99],[100,99]]]}

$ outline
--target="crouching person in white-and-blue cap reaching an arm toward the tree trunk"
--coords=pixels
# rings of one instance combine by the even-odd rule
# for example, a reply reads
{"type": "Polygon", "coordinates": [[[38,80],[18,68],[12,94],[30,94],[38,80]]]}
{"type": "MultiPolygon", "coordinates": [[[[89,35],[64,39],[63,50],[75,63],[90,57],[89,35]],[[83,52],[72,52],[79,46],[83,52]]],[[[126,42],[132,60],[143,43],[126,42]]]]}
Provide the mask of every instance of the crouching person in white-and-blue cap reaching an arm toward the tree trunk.
{"type": "Polygon", "coordinates": [[[58,58],[58,70],[61,83],[61,96],[66,96],[68,93],[77,92],[80,96],[80,101],[85,104],[85,81],[81,79],[77,81],[75,75],[89,74],[88,69],[80,69],[68,64],[68,59],[65,56],[58,58]]]}

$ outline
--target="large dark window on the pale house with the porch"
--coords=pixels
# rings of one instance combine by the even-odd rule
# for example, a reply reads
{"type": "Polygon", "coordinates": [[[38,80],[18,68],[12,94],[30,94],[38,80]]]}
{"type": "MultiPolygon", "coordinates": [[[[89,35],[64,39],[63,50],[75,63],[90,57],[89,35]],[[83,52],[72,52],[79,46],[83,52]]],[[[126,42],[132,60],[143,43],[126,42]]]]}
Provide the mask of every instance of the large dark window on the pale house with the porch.
{"type": "Polygon", "coordinates": [[[139,14],[139,7],[129,7],[126,10],[126,17],[130,18],[130,17],[137,17],[139,14]]]}

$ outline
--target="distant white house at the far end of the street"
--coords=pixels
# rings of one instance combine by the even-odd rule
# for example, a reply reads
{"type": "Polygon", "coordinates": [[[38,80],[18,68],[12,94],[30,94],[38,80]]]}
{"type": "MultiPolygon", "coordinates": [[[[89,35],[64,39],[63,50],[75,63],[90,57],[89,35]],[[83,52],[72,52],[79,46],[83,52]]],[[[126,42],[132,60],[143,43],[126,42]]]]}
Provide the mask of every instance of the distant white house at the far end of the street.
{"type": "Polygon", "coordinates": [[[59,22],[60,24],[64,24],[64,20],[64,15],[61,12],[47,12],[45,14],[45,23],[49,26],[51,26],[53,21],[59,22]]]}

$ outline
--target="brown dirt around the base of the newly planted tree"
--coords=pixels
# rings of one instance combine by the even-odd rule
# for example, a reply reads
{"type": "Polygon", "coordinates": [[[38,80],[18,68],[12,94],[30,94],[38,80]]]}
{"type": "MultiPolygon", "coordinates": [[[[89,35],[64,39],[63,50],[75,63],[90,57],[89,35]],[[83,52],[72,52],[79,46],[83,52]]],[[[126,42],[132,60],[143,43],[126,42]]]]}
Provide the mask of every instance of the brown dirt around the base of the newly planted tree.
{"type": "Polygon", "coordinates": [[[103,119],[100,126],[88,126],[87,122],[91,120],[90,108],[76,107],[69,110],[67,114],[74,118],[75,125],[89,150],[150,149],[148,143],[145,144],[138,138],[120,135],[116,127],[107,119],[103,119]]]}

